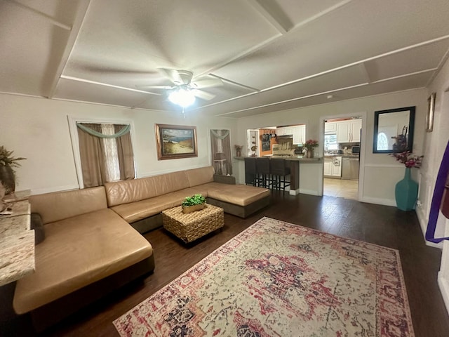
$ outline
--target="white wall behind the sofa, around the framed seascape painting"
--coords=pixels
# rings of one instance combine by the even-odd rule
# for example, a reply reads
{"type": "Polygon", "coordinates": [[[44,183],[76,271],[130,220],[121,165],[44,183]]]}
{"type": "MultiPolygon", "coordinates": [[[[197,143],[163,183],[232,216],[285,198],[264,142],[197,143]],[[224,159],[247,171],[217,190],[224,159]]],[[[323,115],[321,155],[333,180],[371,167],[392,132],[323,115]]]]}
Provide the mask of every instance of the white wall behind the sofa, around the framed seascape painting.
{"type": "MultiPolygon", "coordinates": [[[[133,144],[138,177],[210,165],[210,128],[229,128],[234,144],[236,120],[197,118],[186,112],[162,113],[20,95],[0,94],[0,144],[26,157],[16,169],[17,190],[33,194],[79,188],[67,115],[133,121],[133,144]],[[198,157],[157,160],[154,124],[196,126],[198,157]]],[[[234,149],[232,149],[234,150],[234,149]]]]}

